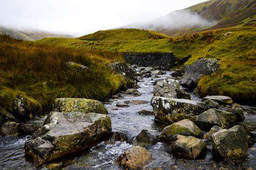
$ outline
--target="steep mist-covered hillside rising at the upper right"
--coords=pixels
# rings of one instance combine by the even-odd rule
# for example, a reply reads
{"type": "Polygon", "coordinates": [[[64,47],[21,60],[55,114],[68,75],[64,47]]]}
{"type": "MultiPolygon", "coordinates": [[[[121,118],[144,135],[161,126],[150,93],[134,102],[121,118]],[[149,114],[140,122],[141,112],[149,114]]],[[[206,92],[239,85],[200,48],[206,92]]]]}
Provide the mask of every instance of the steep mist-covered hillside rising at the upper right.
{"type": "Polygon", "coordinates": [[[204,29],[256,26],[255,15],[254,0],[211,0],[170,12],[156,20],[134,23],[124,28],[150,29],[166,35],[180,36],[204,29]]]}

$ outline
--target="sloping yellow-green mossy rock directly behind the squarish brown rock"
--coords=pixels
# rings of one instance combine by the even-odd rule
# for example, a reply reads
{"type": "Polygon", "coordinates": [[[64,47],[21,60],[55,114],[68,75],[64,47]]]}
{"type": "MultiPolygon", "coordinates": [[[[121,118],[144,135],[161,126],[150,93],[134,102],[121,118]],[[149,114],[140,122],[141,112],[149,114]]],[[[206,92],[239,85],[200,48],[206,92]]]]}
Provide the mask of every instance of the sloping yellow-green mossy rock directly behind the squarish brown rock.
{"type": "Polygon", "coordinates": [[[202,131],[191,120],[183,119],[177,123],[166,126],[160,134],[160,139],[165,142],[170,142],[174,135],[183,136],[200,136],[202,131]]]}

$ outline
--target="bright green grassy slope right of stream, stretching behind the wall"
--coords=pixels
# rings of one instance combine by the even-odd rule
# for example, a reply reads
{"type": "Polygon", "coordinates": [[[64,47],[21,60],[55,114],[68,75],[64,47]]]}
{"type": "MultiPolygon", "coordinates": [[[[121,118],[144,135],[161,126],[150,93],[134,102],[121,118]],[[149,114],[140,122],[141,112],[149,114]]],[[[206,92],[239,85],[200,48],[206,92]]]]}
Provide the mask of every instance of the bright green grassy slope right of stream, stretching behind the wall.
{"type": "MultiPolygon", "coordinates": [[[[117,38],[118,39],[118,38],[117,38]]],[[[221,72],[199,82],[202,95],[230,95],[236,101],[256,101],[256,28],[232,27],[203,31],[175,38],[134,41],[81,41],[67,38],[44,38],[34,42],[75,49],[118,52],[174,52],[179,58],[219,60],[221,72]],[[226,33],[231,32],[229,35],[226,33]]]]}

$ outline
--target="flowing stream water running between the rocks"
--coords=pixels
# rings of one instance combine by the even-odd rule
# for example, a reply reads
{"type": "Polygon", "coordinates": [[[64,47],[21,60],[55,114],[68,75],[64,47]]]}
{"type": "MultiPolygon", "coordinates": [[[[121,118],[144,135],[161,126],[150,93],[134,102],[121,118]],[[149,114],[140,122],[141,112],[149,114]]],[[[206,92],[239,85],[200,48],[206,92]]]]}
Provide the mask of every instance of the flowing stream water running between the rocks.
{"type": "MultiPolygon", "coordinates": [[[[125,133],[128,142],[115,142],[106,144],[102,142],[88,150],[76,155],[61,158],[56,162],[63,169],[121,169],[115,164],[115,160],[121,153],[132,147],[133,138],[138,135],[142,129],[159,134],[163,126],[155,122],[154,116],[139,115],[138,111],[146,109],[153,110],[150,106],[150,100],[153,96],[153,83],[157,79],[170,77],[171,72],[167,71],[158,78],[139,77],[138,91],[141,96],[121,94],[118,99],[111,99],[105,104],[111,118],[113,131],[125,133]],[[117,102],[127,102],[131,100],[145,101],[144,104],[130,104],[130,107],[117,108],[117,102]]],[[[192,94],[193,100],[201,100],[192,94]]],[[[250,109],[248,107],[247,109],[250,109]]],[[[256,131],[256,115],[245,113],[246,119],[242,125],[250,127],[250,130],[256,131]]],[[[24,157],[24,143],[29,139],[26,137],[0,137],[0,169],[37,169],[33,164],[24,157]]],[[[207,143],[211,149],[211,144],[207,143]]],[[[188,160],[175,158],[169,152],[169,147],[163,143],[157,143],[146,148],[153,156],[153,160],[148,164],[146,169],[256,169],[256,144],[249,148],[248,156],[241,164],[215,160],[212,152],[207,151],[206,155],[198,160],[188,160]]],[[[39,168],[40,169],[40,168],[39,168]]]]}

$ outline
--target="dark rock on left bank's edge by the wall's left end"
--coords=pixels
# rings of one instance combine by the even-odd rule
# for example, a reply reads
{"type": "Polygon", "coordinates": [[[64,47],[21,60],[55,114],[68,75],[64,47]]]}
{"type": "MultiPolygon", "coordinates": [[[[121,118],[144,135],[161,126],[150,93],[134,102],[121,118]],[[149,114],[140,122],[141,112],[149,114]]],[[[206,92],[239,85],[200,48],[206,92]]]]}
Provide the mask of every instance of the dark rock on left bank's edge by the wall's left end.
{"type": "Polygon", "coordinates": [[[137,84],[138,78],[135,71],[127,66],[124,62],[114,62],[108,65],[113,69],[117,74],[121,74],[125,77],[127,86],[132,87],[134,84],[137,84]]]}

